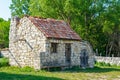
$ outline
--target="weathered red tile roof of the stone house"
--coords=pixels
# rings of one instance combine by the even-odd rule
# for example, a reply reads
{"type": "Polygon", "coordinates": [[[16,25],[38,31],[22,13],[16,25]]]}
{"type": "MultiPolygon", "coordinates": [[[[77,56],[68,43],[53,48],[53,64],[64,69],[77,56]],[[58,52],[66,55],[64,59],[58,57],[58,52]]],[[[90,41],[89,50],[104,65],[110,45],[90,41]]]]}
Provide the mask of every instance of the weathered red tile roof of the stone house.
{"type": "Polygon", "coordinates": [[[37,17],[29,17],[29,19],[47,38],[81,40],[79,35],[63,20],[37,17]]]}

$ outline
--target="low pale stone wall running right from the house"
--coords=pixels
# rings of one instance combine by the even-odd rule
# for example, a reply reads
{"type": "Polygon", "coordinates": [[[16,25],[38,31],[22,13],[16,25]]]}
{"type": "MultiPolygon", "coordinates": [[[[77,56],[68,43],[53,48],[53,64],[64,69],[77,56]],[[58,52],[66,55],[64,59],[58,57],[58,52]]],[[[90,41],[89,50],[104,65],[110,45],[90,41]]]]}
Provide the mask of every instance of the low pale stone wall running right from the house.
{"type": "Polygon", "coordinates": [[[115,64],[120,66],[120,57],[100,57],[96,56],[95,60],[97,62],[105,62],[105,63],[110,63],[110,64],[115,64]]]}

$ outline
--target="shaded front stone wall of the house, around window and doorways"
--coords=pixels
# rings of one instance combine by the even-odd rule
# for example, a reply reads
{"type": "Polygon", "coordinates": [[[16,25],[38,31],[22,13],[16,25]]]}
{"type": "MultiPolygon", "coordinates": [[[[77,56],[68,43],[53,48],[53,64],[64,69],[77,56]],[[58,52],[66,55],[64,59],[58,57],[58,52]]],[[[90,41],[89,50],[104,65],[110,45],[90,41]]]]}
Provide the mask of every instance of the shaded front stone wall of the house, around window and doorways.
{"type": "Polygon", "coordinates": [[[94,54],[85,42],[71,41],[71,40],[54,40],[49,39],[46,41],[46,52],[41,53],[41,67],[46,66],[68,66],[65,57],[65,44],[71,44],[71,66],[80,66],[81,50],[86,49],[89,54],[88,65],[94,67],[94,54]],[[58,52],[51,53],[51,43],[58,43],[58,52]],[[87,45],[87,46],[86,46],[87,45]]]}

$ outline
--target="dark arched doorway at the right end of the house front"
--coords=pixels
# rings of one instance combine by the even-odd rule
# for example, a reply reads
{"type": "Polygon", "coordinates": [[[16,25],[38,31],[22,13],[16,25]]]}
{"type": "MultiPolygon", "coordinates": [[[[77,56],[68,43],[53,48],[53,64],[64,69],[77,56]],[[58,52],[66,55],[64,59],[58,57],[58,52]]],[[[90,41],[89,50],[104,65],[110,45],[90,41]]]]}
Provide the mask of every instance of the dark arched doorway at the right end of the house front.
{"type": "Polygon", "coordinates": [[[88,66],[88,52],[83,49],[80,53],[80,66],[86,68],[88,66]]]}

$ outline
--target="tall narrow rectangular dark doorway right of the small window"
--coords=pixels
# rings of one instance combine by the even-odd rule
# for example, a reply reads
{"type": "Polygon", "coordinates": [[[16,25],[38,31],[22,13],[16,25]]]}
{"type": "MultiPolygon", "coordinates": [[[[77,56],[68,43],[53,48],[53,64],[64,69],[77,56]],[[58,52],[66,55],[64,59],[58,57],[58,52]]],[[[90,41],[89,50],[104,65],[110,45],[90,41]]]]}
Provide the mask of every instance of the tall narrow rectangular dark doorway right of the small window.
{"type": "Polygon", "coordinates": [[[69,43],[65,44],[65,58],[66,58],[66,63],[70,64],[71,63],[71,44],[69,43]]]}

